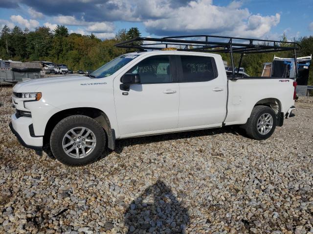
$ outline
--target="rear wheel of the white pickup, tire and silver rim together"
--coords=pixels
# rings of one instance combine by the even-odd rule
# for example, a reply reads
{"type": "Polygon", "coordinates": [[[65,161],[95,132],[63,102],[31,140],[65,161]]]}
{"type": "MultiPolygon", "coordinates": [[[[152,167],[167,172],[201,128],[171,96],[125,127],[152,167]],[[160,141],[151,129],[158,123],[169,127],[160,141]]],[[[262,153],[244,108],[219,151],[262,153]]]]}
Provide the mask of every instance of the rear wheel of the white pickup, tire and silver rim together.
{"type": "Polygon", "coordinates": [[[255,106],[245,125],[246,133],[256,140],[270,137],[276,128],[276,115],[268,106],[255,106]]]}

